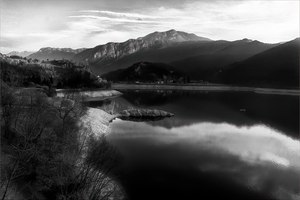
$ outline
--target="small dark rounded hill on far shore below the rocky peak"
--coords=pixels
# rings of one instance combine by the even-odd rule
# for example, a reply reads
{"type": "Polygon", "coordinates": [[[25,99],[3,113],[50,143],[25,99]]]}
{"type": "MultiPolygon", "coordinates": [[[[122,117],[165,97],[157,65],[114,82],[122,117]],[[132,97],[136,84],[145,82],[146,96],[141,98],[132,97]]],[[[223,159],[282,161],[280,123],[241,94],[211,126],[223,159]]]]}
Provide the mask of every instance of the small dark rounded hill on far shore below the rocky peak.
{"type": "Polygon", "coordinates": [[[138,62],[126,69],[119,69],[103,75],[110,81],[126,82],[183,82],[187,77],[164,63],[138,62]]]}

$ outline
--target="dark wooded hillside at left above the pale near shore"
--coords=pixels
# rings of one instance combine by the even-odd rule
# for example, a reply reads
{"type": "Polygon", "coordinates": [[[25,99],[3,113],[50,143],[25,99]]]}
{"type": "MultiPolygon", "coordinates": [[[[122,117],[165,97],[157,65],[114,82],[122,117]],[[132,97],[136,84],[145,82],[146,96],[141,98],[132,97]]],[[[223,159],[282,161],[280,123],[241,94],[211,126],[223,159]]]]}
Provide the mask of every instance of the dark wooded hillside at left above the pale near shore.
{"type": "Polygon", "coordinates": [[[68,60],[39,62],[0,54],[1,82],[12,87],[99,88],[107,82],[68,60]]]}

